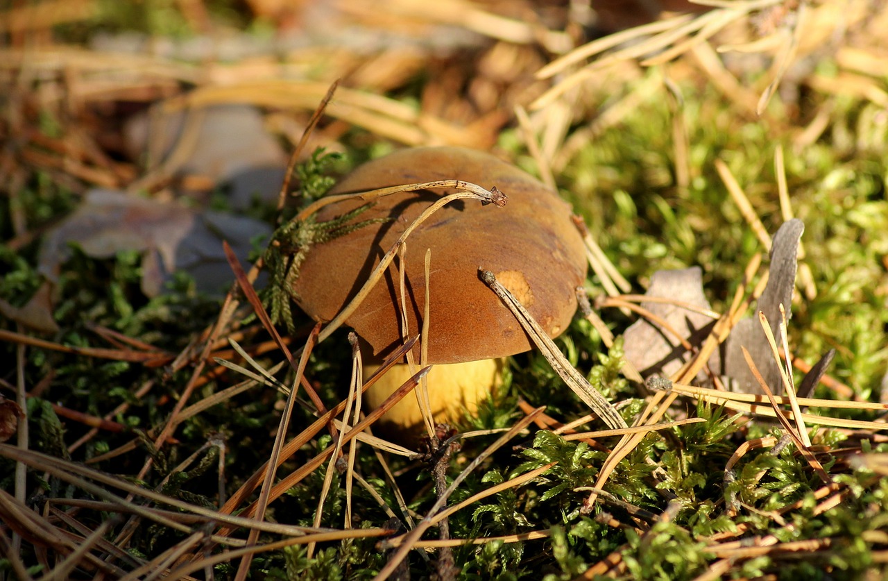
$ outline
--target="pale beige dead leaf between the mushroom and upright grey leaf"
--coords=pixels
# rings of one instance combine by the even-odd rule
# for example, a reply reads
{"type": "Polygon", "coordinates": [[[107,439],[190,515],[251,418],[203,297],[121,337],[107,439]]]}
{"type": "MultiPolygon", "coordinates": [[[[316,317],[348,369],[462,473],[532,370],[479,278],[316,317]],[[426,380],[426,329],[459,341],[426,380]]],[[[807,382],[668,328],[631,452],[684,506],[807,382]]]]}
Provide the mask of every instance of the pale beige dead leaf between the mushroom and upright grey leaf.
{"type": "MultiPolygon", "coordinates": [[[[705,309],[710,303],[703,295],[700,267],[684,270],[659,270],[654,273],[647,297],[671,298],[705,309]]],[[[709,333],[714,320],[702,313],[682,306],[662,302],[643,302],[641,306],[662,318],[692,345],[699,346],[709,333]]],[[[691,354],[681,346],[678,338],[662,325],[640,319],[623,335],[626,358],[645,377],[660,374],[669,377],[686,362],[691,354]]],[[[715,355],[718,358],[718,354],[715,355]]],[[[711,362],[711,360],[710,360],[711,362]]],[[[718,361],[715,362],[718,364],[718,361]]]]}

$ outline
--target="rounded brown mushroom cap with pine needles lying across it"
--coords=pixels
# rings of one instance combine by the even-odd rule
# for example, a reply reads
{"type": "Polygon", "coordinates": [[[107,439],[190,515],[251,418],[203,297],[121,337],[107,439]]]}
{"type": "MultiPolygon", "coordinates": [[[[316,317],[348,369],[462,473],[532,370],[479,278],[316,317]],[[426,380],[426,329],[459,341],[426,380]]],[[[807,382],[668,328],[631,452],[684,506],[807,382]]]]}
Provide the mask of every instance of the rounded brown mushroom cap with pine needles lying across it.
{"type": "MultiPolygon", "coordinates": [[[[527,307],[551,337],[567,328],[576,310],[575,289],[583,283],[583,239],[570,206],[524,171],[493,155],[462,147],[417,147],[365,163],[330,194],[367,191],[437,179],[463,179],[496,186],[508,196],[503,208],[474,200],[449,203],[407,238],[409,331],[421,329],[424,310],[424,257],[430,268],[431,363],[503,357],[527,351],[531,344],[519,322],[478,277],[478,268],[494,272],[527,307]]],[[[406,227],[444,188],[388,195],[355,221],[391,218],[358,228],[314,246],[302,265],[296,291],[299,306],[318,321],[329,321],[353,298],[370,272],[406,227]]],[[[347,200],[325,206],[325,221],[361,205],[347,200]]],[[[346,321],[385,355],[400,342],[399,276],[396,259],[361,306],[346,321]]]]}

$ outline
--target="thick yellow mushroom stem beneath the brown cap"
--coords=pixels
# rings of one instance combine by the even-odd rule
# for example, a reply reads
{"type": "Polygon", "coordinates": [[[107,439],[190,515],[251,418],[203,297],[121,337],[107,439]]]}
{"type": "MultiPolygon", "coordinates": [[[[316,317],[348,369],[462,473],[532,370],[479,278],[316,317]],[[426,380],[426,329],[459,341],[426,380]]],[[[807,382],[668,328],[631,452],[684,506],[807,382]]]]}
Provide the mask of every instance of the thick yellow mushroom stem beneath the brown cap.
{"type": "MultiPolygon", "coordinates": [[[[435,423],[453,424],[464,417],[466,411],[474,414],[481,402],[496,392],[503,379],[504,359],[482,359],[464,363],[448,363],[432,366],[428,378],[429,401],[435,423]]],[[[379,368],[364,365],[364,377],[379,368]]],[[[416,368],[418,370],[418,367],[416,368]]],[[[367,410],[375,410],[398,387],[411,377],[407,363],[400,363],[388,370],[376,384],[364,393],[367,410]]],[[[386,412],[377,425],[388,434],[418,435],[423,430],[423,415],[417,397],[420,387],[413,394],[386,412]]]]}

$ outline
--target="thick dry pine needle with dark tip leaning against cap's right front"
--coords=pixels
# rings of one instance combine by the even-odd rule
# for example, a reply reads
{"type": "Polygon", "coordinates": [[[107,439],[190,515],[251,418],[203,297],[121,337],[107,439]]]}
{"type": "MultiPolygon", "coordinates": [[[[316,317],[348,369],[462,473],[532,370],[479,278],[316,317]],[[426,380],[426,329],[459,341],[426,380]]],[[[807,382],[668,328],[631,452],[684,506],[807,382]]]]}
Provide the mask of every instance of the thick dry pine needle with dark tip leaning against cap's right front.
{"type": "Polygon", "coordinates": [[[534,317],[527,312],[527,309],[521,305],[517,298],[512,296],[508,289],[496,280],[496,275],[489,270],[481,268],[480,277],[481,280],[490,287],[490,290],[493,290],[496,293],[496,296],[503,301],[503,304],[509,308],[511,313],[515,315],[515,318],[518,319],[518,322],[521,324],[521,328],[525,330],[527,336],[530,337],[535,346],[540,349],[543,353],[543,357],[546,358],[546,361],[549,362],[552,369],[559,374],[559,377],[564,380],[567,386],[570,387],[574,393],[586,403],[586,405],[595,411],[595,413],[604,420],[607,426],[614,429],[627,427],[626,421],[614,408],[614,405],[611,402],[608,402],[605,396],[602,395],[599,390],[595,389],[595,387],[591,386],[589,381],[583,377],[583,374],[575,370],[574,366],[565,359],[565,356],[559,351],[558,346],[556,346],[551,338],[549,338],[543,328],[540,327],[539,323],[534,320],[534,317]]]}

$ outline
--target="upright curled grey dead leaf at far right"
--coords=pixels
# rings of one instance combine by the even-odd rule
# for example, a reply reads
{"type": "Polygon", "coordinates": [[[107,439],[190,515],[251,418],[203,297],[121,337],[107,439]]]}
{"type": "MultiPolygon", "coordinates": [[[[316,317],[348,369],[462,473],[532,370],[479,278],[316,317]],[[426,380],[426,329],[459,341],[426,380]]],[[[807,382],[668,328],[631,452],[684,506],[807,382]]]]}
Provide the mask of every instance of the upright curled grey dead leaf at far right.
{"type": "MultiPolygon", "coordinates": [[[[765,291],[758,298],[756,312],[765,314],[771,325],[773,336],[780,340],[780,306],[786,309],[787,319],[792,315],[792,291],[796,286],[798,243],[802,238],[805,224],[800,219],[784,222],[773,236],[771,247],[771,268],[765,291]]],[[[756,378],[749,370],[741,353],[746,347],[758,371],[775,395],[783,393],[780,367],[774,361],[771,346],[765,338],[758,317],[747,317],[731,330],[725,341],[725,376],[730,378],[728,385],[733,391],[746,394],[761,394],[756,378]]]]}

